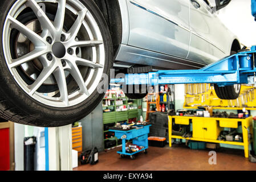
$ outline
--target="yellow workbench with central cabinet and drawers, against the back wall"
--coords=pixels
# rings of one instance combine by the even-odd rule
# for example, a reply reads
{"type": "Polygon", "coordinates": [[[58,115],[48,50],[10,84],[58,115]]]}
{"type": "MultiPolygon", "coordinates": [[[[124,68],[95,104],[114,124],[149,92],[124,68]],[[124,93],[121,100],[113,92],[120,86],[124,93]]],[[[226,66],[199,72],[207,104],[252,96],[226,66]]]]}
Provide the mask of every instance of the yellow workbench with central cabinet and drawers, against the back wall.
{"type": "Polygon", "coordinates": [[[172,138],[196,140],[201,142],[211,143],[225,143],[234,144],[244,147],[245,158],[249,156],[249,144],[251,143],[248,138],[248,128],[252,134],[253,118],[246,119],[239,118],[204,118],[204,117],[186,117],[186,116],[169,116],[169,146],[172,147],[172,138]],[[177,135],[172,135],[172,122],[177,125],[189,125],[192,122],[193,134],[192,138],[184,138],[177,135]],[[225,140],[218,140],[220,132],[224,127],[238,128],[238,122],[242,125],[243,142],[230,142],[225,140]]]}

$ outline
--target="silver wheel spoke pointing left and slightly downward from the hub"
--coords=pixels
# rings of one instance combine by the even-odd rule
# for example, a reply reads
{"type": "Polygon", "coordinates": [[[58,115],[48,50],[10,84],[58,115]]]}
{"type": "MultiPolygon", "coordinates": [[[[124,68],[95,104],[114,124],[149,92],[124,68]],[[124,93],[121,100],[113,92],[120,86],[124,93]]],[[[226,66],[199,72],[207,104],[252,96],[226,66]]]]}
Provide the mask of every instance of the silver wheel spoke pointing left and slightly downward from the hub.
{"type": "Polygon", "coordinates": [[[21,56],[17,59],[11,60],[11,64],[9,64],[9,67],[10,68],[18,67],[19,65],[21,65],[23,63],[27,63],[28,61],[31,61],[33,59],[36,59],[36,58],[44,55],[45,53],[47,53],[46,49],[43,49],[43,50],[34,49],[34,51],[27,53],[24,56],[21,56]]]}

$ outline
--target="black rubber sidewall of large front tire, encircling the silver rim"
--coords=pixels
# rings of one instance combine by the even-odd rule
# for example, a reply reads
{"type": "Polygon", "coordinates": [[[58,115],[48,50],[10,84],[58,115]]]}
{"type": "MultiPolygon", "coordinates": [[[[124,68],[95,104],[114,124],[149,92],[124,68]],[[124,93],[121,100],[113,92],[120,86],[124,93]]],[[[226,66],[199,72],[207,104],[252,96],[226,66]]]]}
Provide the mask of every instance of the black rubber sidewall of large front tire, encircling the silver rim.
{"type": "MultiPolygon", "coordinates": [[[[15,107],[18,107],[18,109],[21,110],[23,113],[29,115],[30,119],[27,120],[30,121],[34,119],[37,122],[42,121],[44,122],[44,124],[47,123],[48,126],[62,126],[67,125],[67,123],[72,123],[78,121],[79,119],[82,119],[92,110],[95,109],[95,107],[104,97],[104,93],[100,94],[97,92],[96,89],[91,94],[91,96],[87,98],[87,100],[81,102],[78,105],[64,108],[51,107],[44,105],[41,102],[38,102],[31,98],[22,90],[22,88],[14,80],[14,77],[11,75],[9,68],[7,67],[5,57],[3,56],[2,32],[6,16],[9,13],[11,6],[13,6],[15,2],[16,1],[14,0],[5,0],[0,3],[0,15],[4,17],[3,19],[0,20],[0,94],[2,94],[4,98],[6,98],[10,105],[15,105],[15,107]]],[[[109,72],[113,65],[113,47],[107,23],[105,22],[103,15],[100,13],[100,10],[97,8],[97,6],[92,0],[80,0],[80,2],[82,2],[84,6],[86,6],[86,8],[90,11],[92,16],[94,16],[100,28],[105,48],[105,67],[103,73],[108,75],[109,78],[109,72]]],[[[103,81],[103,78],[101,78],[101,81],[103,81]]],[[[33,125],[33,123],[30,122],[30,125],[33,125]]]]}

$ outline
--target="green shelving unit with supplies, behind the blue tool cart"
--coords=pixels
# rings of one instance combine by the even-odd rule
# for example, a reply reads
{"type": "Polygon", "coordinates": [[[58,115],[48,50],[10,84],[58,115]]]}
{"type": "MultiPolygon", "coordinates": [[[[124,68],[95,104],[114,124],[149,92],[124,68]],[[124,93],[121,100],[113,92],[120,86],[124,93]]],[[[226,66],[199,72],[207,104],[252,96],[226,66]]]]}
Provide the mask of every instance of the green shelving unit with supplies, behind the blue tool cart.
{"type": "Polygon", "coordinates": [[[111,98],[103,98],[103,125],[105,146],[107,142],[115,141],[115,145],[111,147],[105,147],[105,150],[115,148],[122,144],[120,139],[117,139],[116,137],[108,138],[106,136],[110,133],[108,127],[114,126],[117,122],[129,122],[129,119],[133,118],[136,118],[136,120],[138,120],[138,102],[139,100],[130,100],[128,97],[115,97],[115,94],[112,94],[111,98]],[[108,102],[108,100],[110,100],[111,105],[106,105],[106,101],[108,102]],[[119,108],[120,106],[125,106],[127,110],[122,111],[119,108]],[[111,111],[104,112],[105,109],[110,109],[111,111]]]}

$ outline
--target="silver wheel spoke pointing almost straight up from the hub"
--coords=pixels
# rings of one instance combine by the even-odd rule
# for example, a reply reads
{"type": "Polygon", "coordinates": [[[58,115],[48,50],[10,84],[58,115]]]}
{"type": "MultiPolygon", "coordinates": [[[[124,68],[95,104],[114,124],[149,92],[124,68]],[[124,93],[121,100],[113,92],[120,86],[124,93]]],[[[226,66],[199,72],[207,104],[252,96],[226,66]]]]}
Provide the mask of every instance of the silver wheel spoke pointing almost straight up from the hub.
{"type": "Polygon", "coordinates": [[[66,10],[66,0],[59,0],[58,10],[54,20],[54,27],[56,28],[57,35],[62,34],[64,18],[65,18],[65,10],[66,10]]]}

